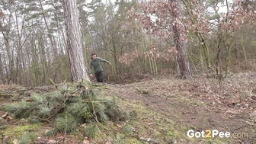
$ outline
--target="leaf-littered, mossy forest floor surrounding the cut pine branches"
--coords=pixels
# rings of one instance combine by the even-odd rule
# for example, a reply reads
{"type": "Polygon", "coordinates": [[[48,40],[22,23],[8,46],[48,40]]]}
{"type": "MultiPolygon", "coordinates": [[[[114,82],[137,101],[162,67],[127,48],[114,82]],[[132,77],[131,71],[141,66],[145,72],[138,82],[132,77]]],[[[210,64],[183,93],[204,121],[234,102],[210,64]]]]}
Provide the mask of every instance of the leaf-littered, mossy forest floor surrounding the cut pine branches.
{"type": "MultiPolygon", "coordinates": [[[[202,77],[152,78],[125,85],[95,85],[101,97],[114,98],[123,110],[133,110],[136,118],[104,123],[111,130],[101,130],[95,139],[79,133],[43,136],[50,124],[31,126],[26,120],[10,118],[9,126],[0,129],[0,142],[15,142],[17,126],[26,126],[35,129],[35,143],[256,143],[256,73],[235,74],[222,82],[202,77]],[[196,134],[190,138],[192,130],[196,134]]],[[[0,92],[7,89],[17,92],[20,88],[0,85],[0,92]]],[[[7,98],[1,104],[11,102],[7,98]]]]}

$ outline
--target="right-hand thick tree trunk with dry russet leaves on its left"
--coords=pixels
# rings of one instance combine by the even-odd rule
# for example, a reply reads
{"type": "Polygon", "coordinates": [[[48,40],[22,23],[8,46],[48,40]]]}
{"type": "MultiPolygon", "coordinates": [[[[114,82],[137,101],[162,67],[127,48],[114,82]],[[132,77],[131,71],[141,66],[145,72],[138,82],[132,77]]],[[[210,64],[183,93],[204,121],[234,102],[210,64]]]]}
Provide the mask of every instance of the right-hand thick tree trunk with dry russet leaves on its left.
{"type": "Polygon", "coordinates": [[[147,34],[156,35],[159,38],[173,40],[170,47],[175,47],[177,50],[178,75],[180,78],[190,78],[190,65],[187,59],[187,46],[184,24],[181,21],[181,11],[178,7],[177,0],[142,1],[139,4],[142,10],[140,13],[131,16],[139,19],[147,34]],[[152,21],[155,17],[155,21],[152,21]]]}

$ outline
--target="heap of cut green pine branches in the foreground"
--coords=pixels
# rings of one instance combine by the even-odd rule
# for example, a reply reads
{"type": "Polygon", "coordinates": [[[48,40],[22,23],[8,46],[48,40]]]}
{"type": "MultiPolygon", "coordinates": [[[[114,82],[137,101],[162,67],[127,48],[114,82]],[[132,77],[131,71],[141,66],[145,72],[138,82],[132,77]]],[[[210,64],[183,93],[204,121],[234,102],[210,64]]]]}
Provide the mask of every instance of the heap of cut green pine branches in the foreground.
{"type": "Polygon", "coordinates": [[[100,98],[91,85],[66,84],[56,91],[31,94],[17,104],[5,104],[4,108],[15,118],[29,118],[30,122],[55,120],[53,130],[47,134],[72,133],[83,123],[82,133],[95,137],[101,123],[126,120],[126,112],[116,102],[100,98]],[[85,127],[84,127],[85,126],[85,127]]]}

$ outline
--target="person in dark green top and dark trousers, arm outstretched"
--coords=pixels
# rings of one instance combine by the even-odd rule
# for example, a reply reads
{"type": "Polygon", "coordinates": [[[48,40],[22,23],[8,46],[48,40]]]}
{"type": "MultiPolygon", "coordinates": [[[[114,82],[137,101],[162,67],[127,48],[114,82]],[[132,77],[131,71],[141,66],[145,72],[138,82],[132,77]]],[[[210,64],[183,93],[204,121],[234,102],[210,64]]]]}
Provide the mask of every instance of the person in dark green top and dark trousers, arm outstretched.
{"type": "Polygon", "coordinates": [[[107,60],[101,59],[100,57],[97,57],[95,53],[91,54],[91,62],[90,62],[89,74],[92,77],[91,69],[93,67],[94,68],[94,72],[95,72],[95,77],[97,79],[97,82],[103,82],[104,70],[103,70],[103,68],[101,66],[101,62],[106,62],[109,65],[111,65],[110,62],[108,62],[107,60]]]}

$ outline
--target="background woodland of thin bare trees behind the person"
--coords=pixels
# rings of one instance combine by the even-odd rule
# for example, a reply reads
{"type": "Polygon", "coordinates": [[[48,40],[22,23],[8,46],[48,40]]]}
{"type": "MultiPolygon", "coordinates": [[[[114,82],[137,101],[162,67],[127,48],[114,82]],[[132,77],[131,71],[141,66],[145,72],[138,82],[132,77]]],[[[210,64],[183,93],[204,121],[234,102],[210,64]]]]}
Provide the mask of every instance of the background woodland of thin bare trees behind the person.
{"type": "MultiPolygon", "coordinates": [[[[62,5],[58,0],[0,2],[0,83],[72,80],[62,5]]],[[[91,53],[109,60],[108,81],[178,74],[177,30],[194,75],[255,70],[254,0],[77,0],[77,5],[85,65],[91,53]]]]}

